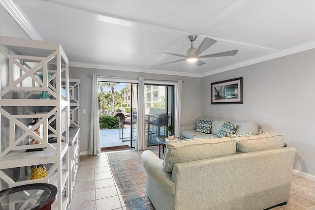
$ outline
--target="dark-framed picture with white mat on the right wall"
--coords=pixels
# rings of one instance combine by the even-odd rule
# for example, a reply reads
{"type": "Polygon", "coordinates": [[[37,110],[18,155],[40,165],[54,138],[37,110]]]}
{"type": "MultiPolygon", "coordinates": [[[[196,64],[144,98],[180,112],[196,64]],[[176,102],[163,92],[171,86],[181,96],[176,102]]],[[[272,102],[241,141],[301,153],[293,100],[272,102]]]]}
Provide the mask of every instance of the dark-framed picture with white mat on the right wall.
{"type": "Polygon", "coordinates": [[[211,83],[211,104],[242,104],[243,77],[211,83]]]}

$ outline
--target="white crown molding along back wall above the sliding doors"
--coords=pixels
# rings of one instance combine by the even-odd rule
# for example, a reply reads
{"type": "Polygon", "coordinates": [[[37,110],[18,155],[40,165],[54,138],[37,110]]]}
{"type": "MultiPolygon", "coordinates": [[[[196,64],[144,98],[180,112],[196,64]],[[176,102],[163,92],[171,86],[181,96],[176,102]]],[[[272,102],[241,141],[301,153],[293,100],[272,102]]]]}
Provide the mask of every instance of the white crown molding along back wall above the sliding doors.
{"type": "Polygon", "coordinates": [[[129,71],[129,72],[164,74],[164,75],[200,78],[200,74],[196,74],[196,73],[166,71],[166,70],[160,70],[160,69],[144,69],[144,68],[134,68],[134,67],[126,67],[126,66],[113,66],[113,65],[95,64],[95,63],[69,62],[69,66],[80,67],[80,68],[95,68],[95,69],[104,69],[104,70],[129,71]]]}

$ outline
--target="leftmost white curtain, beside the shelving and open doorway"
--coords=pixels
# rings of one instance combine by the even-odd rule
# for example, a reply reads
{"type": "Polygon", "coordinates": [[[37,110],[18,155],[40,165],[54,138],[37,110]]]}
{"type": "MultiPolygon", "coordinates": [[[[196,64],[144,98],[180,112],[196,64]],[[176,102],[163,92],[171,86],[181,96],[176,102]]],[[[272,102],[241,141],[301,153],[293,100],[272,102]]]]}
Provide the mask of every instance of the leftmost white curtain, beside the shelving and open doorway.
{"type": "Polygon", "coordinates": [[[91,103],[91,126],[90,138],[88,145],[88,154],[100,154],[100,138],[99,138],[99,117],[98,117],[98,97],[97,97],[97,74],[93,73],[92,81],[92,103],[91,103]]]}

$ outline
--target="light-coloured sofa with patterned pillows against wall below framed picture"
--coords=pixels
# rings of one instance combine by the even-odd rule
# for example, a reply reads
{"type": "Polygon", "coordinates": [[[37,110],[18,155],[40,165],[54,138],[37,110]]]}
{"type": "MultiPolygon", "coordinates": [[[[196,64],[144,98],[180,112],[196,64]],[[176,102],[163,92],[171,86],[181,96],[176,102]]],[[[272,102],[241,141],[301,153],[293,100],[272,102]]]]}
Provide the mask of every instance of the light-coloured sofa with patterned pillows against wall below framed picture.
{"type": "Polygon", "coordinates": [[[181,125],[180,126],[180,134],[182,138],[185,139],[195,139],[195,138],[218,138],[218,133],[220,132],[222,126],[225,122],[230,122],[233,125],[237,126],[235,133],[238,134],[245,134],[245,133],[252,133],[252,134],[260,134],[262,133],[261,129],[258,129],[258,123],[254,121],[231,121],[231,120],[216,120],[210,118],[198,118],[195,124],[191,125],[181,125]],[[202,120],[202,121],[201,121],[202,120]],[[196,128],[198,124],[202,124],[205,126],[207,122],[211,121],[211,127],[209,132],[198,132],[196,128]]]}

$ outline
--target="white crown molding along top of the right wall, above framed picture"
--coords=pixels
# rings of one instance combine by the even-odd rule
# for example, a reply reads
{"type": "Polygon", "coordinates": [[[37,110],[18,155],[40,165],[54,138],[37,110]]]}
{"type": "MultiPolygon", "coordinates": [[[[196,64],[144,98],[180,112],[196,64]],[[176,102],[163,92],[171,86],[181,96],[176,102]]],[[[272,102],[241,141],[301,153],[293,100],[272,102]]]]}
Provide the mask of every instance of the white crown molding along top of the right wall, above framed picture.
{"type": "Polygon", "coordinates": [[[215,70],[211,70],[211,71],[202,73],[201,77],[206,77],[206,76],[210,76],[210,75],[213,75],[213,74],[218,74],[218,73],[221,73],[221,72],[224,72],[224,71],[229,71],[229,70],[232,70],[232,69],[241,68],[241,67],[244,67],[244,66],[252,65],[252,64],[263,62],[263,61],[267,61],[267,60],[273,60],[273,59],[281,58],[281,57],[284,57],[284,56],[292,55],[292,54],[303,52],[303,51],[306,51],[306,50],[311,50],[311,49],[314,49],[314,48],[315,48],[315,41],[311,41],[311,42],[308,42],[308,43],[305,43],[305,44],[301,44],[301,45],[298,45],[298,46],[295,46],[295,47],[287,48],[287,49],[279,51],[277,53],[260,56],[258,58],[254,58],[254,59],[251,59],[251,60],[245,60],[243,62],[235,63],[233,65],[229,65],[229,66],[225,66],[225,67],[218,68],[218,69],[215,69],[215,70]]]}

